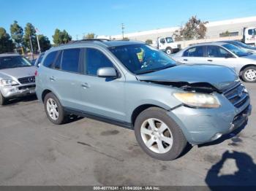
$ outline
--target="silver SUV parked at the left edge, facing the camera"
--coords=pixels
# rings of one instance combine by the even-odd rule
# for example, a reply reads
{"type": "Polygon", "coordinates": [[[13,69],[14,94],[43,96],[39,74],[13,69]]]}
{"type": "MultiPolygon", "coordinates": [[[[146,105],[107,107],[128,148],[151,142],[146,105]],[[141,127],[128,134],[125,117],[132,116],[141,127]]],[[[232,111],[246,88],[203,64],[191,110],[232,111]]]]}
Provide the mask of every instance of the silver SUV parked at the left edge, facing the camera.
{"type": "Polygon", "coordinates": [[[35,94],[35,71],[20,55],[0,54],[0,105],[10,98],[35,94]]]}

